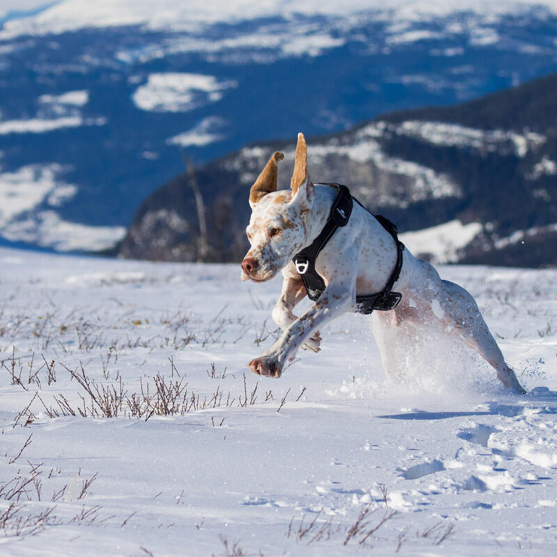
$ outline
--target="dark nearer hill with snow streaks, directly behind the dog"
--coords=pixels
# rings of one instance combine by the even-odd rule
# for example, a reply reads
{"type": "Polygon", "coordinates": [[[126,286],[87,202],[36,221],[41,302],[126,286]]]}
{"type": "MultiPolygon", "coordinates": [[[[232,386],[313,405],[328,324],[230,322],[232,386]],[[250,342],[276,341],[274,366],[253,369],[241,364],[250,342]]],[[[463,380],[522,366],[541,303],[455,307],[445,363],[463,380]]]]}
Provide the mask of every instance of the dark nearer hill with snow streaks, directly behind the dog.
{"type": "MultiPolygon", "coordinates": [[[[379,116],[340,134],[308,138],[314,182],[340,182],[372,212],[398,224],[411,251],[436,262],[557,265],[557,74],[455,107],[379,116]]],[[[292,138],[292,141],[295,137],[292,138]]],[[[199,168],[214,260],[247,249],[249,187],[292,141],[254,143],[199,168]]],[[[141,205],[120,246],[133,258],[199,257],[191,177],[141,205]]]]}

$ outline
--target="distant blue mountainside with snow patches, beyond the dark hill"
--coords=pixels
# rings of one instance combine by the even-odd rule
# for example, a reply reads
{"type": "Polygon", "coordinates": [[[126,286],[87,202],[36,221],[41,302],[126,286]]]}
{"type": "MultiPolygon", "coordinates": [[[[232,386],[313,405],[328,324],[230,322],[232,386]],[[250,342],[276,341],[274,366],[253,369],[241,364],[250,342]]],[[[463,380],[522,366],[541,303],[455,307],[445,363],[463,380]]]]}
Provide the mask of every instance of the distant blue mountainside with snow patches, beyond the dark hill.
{"type": "Polygon", "coordinates": [[[203,164],[557,68],[549,0],[66,0],[0,26],[0,234],[58,250],[116,244],[183,151],[203,164]]]}

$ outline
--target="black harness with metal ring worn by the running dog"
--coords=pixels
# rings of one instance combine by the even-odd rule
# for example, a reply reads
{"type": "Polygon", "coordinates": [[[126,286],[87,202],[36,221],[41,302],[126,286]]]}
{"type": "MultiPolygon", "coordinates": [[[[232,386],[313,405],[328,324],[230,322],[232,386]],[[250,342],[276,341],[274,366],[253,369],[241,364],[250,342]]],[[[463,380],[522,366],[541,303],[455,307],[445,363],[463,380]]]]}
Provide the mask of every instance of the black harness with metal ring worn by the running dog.
{"type": "MultiPolygon", "coordinates": [[[[340,190],[331,207],[329,219],[327,219],[320,235],[318,235],[309,246],[306,246],[292,258],[297,272],[299,272],[302,281],[304,281],[308,297],[312,301],[317,301],[325,290],[324,280],[315,270],[315,260],[317,256],[327,242],[329,242],[332,235],[334,235],[336,229],[346,225],[348,219],[350,219],[354,201],[361,205],[357,199],[350,195],[350,190],[346,186],[340,184],[327,185],[336,186],[340,190]]],[[[363,207],[363,205],[361,205],[361,207],[363,207]]],[[[365,207],[363,208],[365,209],[365,207]]],[[[391,276],[389,276],[389,281],[387,281],[385,288],[383,288],[381,292],[367,296],[356,296],[356,309],[354,310],[356,313],[368,314],[372,313],[373,310],[389,311],[398,306],[398,302],[402,299],[402,294],[400,294],[400,292],[391,292],[391,289],[400,276],[400,270],[402,269],[402,251],[405,249],[405,244],[402,244],[402,242],[398,240],[398,230],[389,219],[386,219],[380,214],[375,214],[373,216],[394,238],[397,246],[397,260],[395,268],[391,276]]]]}

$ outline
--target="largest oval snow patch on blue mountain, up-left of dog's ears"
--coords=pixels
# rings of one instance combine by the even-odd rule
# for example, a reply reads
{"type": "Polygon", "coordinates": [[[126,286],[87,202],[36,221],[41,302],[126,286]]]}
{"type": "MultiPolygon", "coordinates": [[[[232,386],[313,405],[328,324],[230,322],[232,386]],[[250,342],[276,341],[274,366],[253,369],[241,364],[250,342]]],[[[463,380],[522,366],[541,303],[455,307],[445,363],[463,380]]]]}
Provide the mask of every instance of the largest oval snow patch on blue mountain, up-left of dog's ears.
{"type": "Polygon", "coordinates": [[[212,75],[155,73],[136,89],[132,98],[141,110],[187,112],[221,100],[223,91],[236,86],[235,81],[219,81],[212,75]]]}

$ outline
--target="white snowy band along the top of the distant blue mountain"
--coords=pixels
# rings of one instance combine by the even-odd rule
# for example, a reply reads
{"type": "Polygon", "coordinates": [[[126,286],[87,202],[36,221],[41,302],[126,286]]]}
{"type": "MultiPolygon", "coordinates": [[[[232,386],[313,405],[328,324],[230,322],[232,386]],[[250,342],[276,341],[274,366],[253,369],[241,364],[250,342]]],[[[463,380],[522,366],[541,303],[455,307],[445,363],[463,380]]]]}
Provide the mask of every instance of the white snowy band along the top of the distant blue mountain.
{"type": "MultiPolygon", "coordinates": [[[[557,0],[159,0],[156,6],[149,0],[64,0],[33,17],[8,21],[0,31],[0,38],[123,25],[198,31],[217,22],[233,23],[273,16],[295,19],[297,14],[346,17],[361,12],[389,12],[395,16],[395,21],[416,22],[462,11],[487,17],[520,14],[531,6],[546,6],[557,12],[557,0]]],[[[483,44],[492,40],[491,29],[478,36],[478,42],[483,44]]]]}

